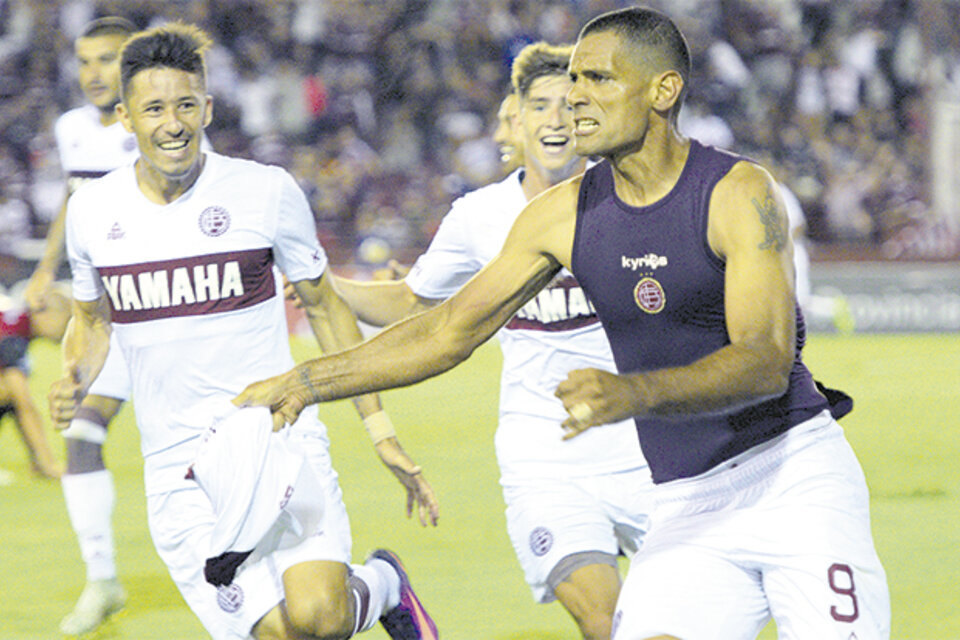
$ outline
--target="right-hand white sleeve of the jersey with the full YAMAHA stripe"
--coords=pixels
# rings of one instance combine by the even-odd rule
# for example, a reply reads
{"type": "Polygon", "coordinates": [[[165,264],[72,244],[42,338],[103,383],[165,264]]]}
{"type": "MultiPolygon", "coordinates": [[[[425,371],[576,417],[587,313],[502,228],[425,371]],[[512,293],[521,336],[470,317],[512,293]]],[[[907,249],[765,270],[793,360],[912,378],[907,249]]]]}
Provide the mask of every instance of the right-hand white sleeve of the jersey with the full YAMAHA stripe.
{"type": "Polygon", "coordinates": [[[313,213],[293,176],[280,171],[274,259],[291,282],[319,278],[327,268],[327,254],[317,239],[313,213]]]}

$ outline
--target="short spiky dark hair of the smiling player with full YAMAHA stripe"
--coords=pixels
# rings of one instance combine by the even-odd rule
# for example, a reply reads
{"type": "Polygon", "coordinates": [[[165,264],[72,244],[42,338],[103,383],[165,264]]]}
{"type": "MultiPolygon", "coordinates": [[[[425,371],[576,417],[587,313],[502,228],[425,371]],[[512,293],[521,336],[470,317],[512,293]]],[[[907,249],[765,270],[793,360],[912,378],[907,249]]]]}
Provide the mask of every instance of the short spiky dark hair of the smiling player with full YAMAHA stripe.
{"type": "Polygon", "coordinates": [[[120,50],[121,90],[126,93],[130,81],[141,71],[159,67],[199,74],[206,84],[204,53],[212,42],[202,29],[183,22],[173,22],[134,35],[120,50]]]}

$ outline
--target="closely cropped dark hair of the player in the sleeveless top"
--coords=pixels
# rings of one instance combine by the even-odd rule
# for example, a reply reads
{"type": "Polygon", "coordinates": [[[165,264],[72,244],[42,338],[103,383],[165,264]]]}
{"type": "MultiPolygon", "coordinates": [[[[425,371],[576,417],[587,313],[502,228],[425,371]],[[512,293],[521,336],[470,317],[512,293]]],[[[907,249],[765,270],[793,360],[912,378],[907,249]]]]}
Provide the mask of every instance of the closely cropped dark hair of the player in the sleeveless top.
{"type": "Polygon", "coordinates": [[[646,7],[627,7],[602,13],[580,30],[580,39],[591,33],[613,31],[640,49],[641,54],[673,70],[683,78],[684,91],[690,81],[690,47],[680,29],[665,13],[646,7]]]}

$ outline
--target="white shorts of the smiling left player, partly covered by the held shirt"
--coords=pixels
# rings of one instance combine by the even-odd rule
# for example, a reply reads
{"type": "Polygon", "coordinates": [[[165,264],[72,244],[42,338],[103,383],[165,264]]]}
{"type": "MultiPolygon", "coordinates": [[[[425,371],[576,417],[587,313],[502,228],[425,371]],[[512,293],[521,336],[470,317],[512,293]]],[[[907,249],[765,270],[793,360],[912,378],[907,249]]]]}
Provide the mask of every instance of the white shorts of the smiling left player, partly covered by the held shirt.
{"type": "Polygon", "coordinates": [[[203,576],[214,514],[200,488],[147,496],[150,535],[184,600],[215,640],[246,639],[253,626],[284,598],[283,572],[313,560],[350,562],[350,523],[330,466],[325,438],[296,433],[325,491],[321,533],[303,543],[244,563],[233,583],[214,587],[203,576]]]}

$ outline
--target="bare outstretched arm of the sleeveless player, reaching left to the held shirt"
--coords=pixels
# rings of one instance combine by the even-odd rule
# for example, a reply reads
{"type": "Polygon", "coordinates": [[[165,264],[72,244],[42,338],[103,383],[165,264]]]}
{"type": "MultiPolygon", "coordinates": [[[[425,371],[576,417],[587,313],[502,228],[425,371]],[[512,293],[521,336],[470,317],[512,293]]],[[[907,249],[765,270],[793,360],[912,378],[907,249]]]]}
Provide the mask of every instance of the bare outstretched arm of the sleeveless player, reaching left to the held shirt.
{"type": "Polygon", "coordinates": [[[564,183],[532,201],[500,254],[444,303],[251,385],[235,402],[270,406],[290,422],[308,404],[405,386],[462,362],[569,264],[576,194],[564,183]]]}

